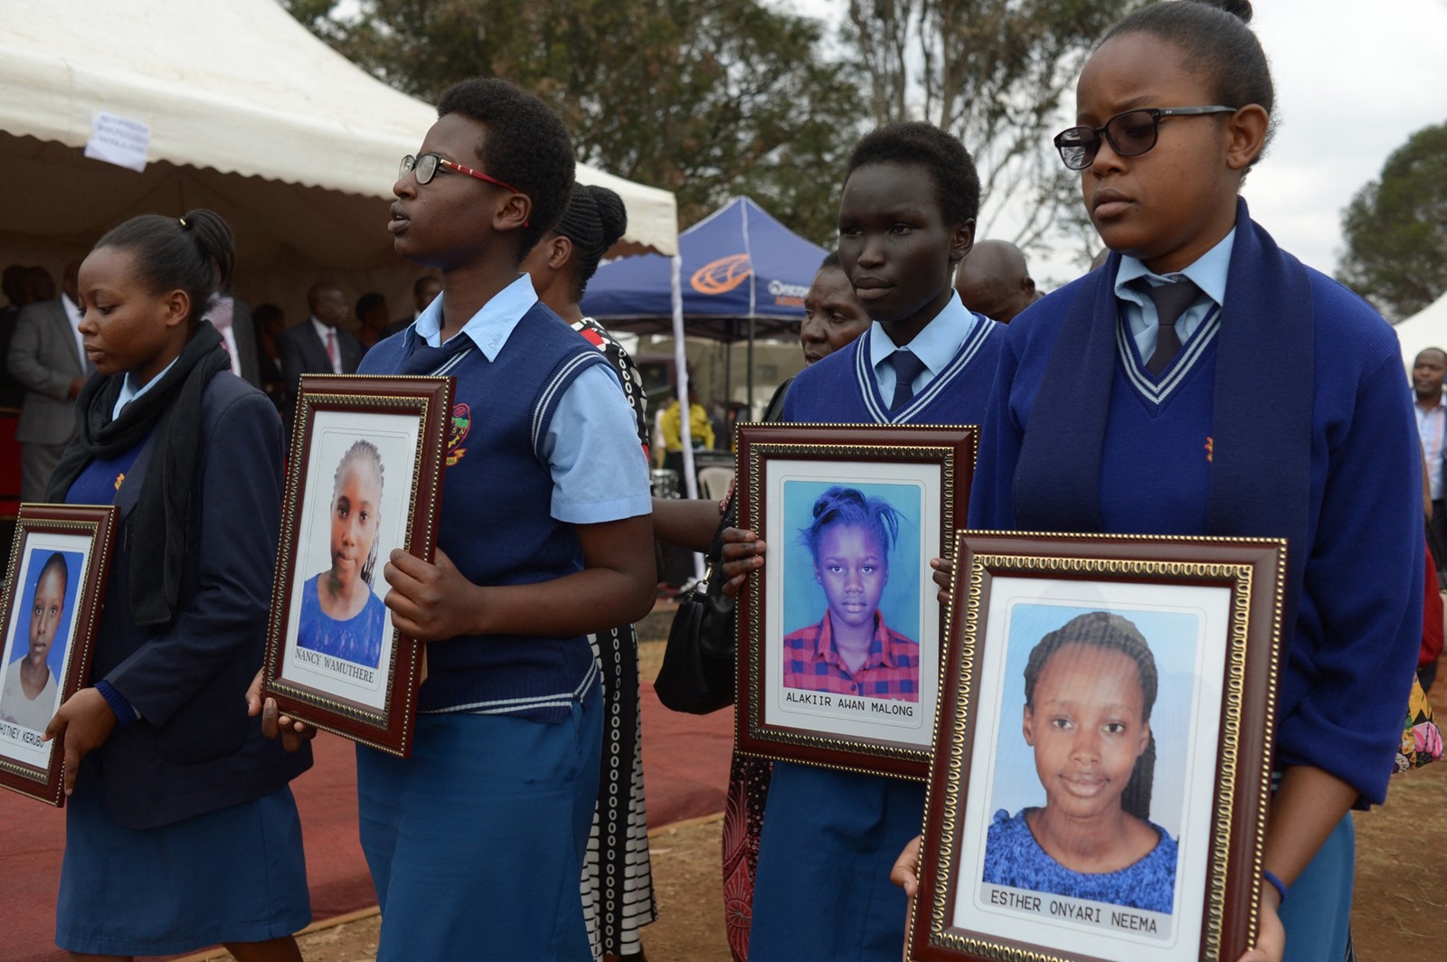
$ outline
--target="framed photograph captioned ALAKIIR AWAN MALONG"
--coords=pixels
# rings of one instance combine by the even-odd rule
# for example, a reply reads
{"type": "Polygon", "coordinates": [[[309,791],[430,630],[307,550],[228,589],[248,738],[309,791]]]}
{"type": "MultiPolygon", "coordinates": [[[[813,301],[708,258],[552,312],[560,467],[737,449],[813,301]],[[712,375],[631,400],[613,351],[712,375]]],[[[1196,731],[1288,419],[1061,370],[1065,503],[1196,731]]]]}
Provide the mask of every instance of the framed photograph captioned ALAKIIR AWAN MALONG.
{"type": "Polygon", "coordinates": [[[943,677],[929,560],[965,521],[974,427],[739,427],[738,749],[925,780],[943,677]]]}

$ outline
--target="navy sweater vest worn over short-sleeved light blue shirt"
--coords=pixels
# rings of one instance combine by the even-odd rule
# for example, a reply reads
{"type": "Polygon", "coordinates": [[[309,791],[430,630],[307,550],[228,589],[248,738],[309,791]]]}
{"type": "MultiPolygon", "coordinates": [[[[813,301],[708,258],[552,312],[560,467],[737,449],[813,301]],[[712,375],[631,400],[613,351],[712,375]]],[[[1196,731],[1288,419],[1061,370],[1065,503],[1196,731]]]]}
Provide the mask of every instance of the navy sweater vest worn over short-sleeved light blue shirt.
{"type": "MultiPolygon", "coordinates": [[[[457,379],[437,544],[473,584],[535,584],[583,570],[573,525],[551,515],[540,444],[559,399],[589,365],[608,362],[537,304],[495,360],[467,336],[440,352],[408,328],[368,352],[357,373],[457,379]],[[427,363],[418,363],[423,357],[427,363]]],[[[596,684],[587,638],[466,635],[428,645],[421,712],[476,712],[561,722],[596,684]]]]}

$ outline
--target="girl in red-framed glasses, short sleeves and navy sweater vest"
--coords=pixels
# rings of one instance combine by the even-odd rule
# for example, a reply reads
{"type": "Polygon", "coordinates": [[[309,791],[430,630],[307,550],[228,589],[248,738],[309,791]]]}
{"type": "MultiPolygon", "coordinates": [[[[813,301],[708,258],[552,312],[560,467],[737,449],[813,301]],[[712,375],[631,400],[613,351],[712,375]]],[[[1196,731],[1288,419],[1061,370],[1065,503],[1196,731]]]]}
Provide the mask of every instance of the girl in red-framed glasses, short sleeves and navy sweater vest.
{"type": "Polygon", "coordinates": [[[603,710],[587,634],[653,605],[648,466],[603,353],[522,257],[563,214],[573,150],[499,80],[444,91],[389,230],[443,294],[360,373],[457,379],[434,564],[394,551],[394,623],[427,642],[412,757],[357,749],[378,958],[592,959],[579,880],[603,710]]]}

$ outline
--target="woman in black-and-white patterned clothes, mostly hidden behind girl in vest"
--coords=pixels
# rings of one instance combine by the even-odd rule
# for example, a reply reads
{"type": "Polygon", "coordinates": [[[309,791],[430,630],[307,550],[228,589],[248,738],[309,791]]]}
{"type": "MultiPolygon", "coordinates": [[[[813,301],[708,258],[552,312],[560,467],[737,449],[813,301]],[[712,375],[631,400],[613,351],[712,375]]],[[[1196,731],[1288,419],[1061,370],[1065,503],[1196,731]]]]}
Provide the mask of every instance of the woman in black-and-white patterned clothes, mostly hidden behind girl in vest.
{"type": "MultiPolygon", "coordinates": [[[[638,444],[648,456],[648,398],[632,357],[579,301],[598,262],[628,230],[628,210],[606,187],[574,184],[557,227],[522,260],[538,298],[603,352],[632,406],[638,444]]],[[[642,719],[638,634],[631,623],[589,635],[603,673],[603,754],[598,812],[583,865],[583,913],[595,955],[605,962],[642,958],[640,930],[658,917],[648,861],[642,791],[642,719]]]]}

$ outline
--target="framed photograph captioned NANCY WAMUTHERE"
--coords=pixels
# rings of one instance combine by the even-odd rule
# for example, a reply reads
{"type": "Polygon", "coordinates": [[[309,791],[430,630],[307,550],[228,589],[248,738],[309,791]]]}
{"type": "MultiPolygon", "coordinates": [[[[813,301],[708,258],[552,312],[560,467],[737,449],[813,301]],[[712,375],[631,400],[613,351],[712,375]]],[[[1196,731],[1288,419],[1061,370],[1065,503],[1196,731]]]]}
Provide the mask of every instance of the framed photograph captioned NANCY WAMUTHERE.
{"type": "MultiPolygon", "coordinates": [[[[450,378],[305,375],[263,687],[284,715],[408,755],[421,645],[392,626],[392,550],[433,560],[450,378]]],[[[460,440],[460,438],[456,438],[460,440]]]]}

